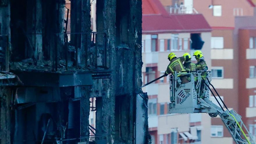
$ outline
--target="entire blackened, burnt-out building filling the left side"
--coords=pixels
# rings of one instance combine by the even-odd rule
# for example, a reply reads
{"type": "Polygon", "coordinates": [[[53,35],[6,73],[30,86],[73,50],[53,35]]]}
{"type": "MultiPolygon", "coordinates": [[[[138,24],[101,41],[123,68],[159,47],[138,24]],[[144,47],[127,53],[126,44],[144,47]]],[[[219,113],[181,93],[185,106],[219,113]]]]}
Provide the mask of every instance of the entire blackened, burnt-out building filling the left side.
{"type": "Polygon", "coordinates": [[[0,0],[0,143],[147,143],[142,2],[98,0],[96,31],[90,1],[70,4],[0,0]]]}

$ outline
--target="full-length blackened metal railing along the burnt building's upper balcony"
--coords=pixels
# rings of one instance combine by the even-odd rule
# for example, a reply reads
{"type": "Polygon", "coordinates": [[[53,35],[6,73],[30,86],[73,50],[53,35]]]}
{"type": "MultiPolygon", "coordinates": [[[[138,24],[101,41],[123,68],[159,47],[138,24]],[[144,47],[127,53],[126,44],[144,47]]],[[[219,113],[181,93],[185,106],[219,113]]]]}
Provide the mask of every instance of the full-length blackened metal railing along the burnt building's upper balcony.
{"type": "MultiPolygon", "coordinates": [[[[98,67],[108,69],[106,33],[65,31],[45,34],[25,33],[23,31],[23,33],[14,33],[14,35],[17,35],[14,38],[22,36],[25,39],[24,54],[12,53],[21,62],[32,58],[33,65],[37,66],[39,60],[51,61],[48,66],[43,67],[50,68],[52,71],[87,69],[88,67],[94,70],[97,70],[98,67]],[[41,46],[38,47],[36,43],[41,43],[41,46]],[[42,52],[43,57],[40,52],[42,52]]],[[[0,60],[1,50],[9,49],[9,45],[3,44],[2,37],[6,37],[4,42],[9,42],[7,35],[0,35],[0,60]]],[[[13,51],[15,49],[17,50],[19,47],[16,46],[13,51]]],[[[16,60],[16,62],[19,61],[16,60]]]]}

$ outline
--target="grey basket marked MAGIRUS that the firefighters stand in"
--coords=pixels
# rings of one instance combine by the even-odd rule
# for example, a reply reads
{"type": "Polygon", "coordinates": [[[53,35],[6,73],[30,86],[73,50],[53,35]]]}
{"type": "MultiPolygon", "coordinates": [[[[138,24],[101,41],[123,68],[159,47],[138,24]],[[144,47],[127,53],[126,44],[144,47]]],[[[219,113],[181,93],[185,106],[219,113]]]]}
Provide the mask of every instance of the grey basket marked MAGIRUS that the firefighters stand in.
{"type": "MultiPolygon", "coordinates": [[[[201,73],[203,71],[187,71],[189,83],[179,83],[179,77],[174,72],[170,75],[170,113],[201,113],[201,105],[198,98],[206,97],[209,99],[209,89],[202,84],[201,73]]],[[[206,77],[211,80],[211,72],[206,72],[206,77]]],[[[209,85],[209,83],[208,83],[209,85]]]]}

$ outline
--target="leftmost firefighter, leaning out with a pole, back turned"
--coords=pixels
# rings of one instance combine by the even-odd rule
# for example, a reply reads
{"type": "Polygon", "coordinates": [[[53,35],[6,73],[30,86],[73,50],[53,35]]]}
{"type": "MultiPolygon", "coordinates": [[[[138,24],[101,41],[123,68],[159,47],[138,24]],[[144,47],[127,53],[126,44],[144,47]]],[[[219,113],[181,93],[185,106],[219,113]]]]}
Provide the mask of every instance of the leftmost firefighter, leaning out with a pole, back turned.
{"type": "Polygon", "coordinates": [[[186,71],[185,67],[183,65],[183,62],[186,60],[186,56],[177,58],[175,53],[171,52],[168,55],[168,60],[170,61],[170,63],[165,71],[165,76],[167,76],[168,74],[174,74],[174,71],[177,71],[177,73],[178,73],[177,77],[180,78],[181,84],[188,83],[189,81],[188,81],[188,77],[186,75],[187,72],[181,72],[181,71],[186,71]]]}

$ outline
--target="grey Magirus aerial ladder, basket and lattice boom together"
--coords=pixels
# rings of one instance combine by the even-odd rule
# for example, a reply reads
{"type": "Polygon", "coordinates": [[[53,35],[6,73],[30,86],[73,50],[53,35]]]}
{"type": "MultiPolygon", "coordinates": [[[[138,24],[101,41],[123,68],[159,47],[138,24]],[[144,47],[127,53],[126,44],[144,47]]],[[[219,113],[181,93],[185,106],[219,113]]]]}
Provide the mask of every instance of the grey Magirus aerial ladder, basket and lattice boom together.
{"type": "MultiPolygon", "coordinates": [[[[176,71],[170,76],[170,113],[208,113],[211,117],[219,115],[236,144],[256,144],[241,120],[241,116],[237,114],[236,111],[227,108],[214,86],[210,83],[211,72],[207,71],[206,77],[201,77],[203,71],[186,72],[185,75],[189,78],[189,83],[181,84],[176,71]],[[209,86],[212,86],[221,102],[219,102],[209,86]],[[210,92],[219,106],[209,99],[210,92]],[[225,106],[225,109],[222,107],[221,103],[225,106]]],[[[179,75],[182,74],[179,73],[179,75]]],[[[165,75],[150,81],[142,87],[164,76],[165,75]]]]}

